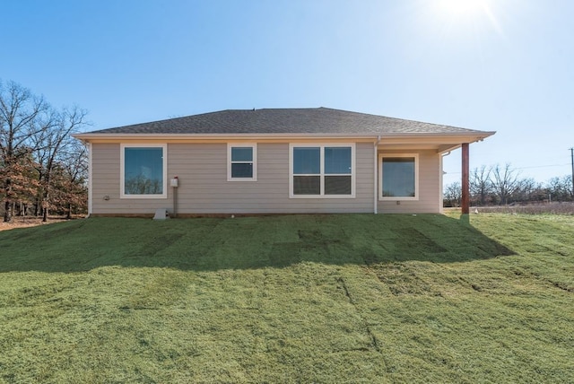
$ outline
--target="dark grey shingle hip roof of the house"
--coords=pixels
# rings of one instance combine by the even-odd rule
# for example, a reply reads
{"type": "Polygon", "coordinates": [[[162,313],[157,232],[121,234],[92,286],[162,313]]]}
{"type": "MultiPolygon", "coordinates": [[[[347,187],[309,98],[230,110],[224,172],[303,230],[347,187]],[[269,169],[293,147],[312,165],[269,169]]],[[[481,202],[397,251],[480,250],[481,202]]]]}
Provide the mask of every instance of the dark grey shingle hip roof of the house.
{"type": "Polygon", "coordinates": [[[227,109],[115,127],[90,134],[474,134],[471,129],[340,109],[227,109]]]}

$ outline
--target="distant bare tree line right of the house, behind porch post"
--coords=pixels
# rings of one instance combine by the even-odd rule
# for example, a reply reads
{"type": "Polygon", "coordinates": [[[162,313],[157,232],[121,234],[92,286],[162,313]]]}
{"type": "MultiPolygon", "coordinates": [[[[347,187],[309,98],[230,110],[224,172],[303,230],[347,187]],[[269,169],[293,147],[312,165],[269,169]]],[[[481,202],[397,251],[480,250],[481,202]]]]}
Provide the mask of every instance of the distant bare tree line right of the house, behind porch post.
{"type": "MultiPolygon", "coordinates": [[[[574,201],[571,175],[541,183],[531,178],[520,178],[520,173],[509,163],[504,166],[483,165],[471,170],[469,184],[473,206],[574,201]]],[[[460,206],[461,197],[461,183],[449,184],[444,190],[444,205],[460,206]]]]}

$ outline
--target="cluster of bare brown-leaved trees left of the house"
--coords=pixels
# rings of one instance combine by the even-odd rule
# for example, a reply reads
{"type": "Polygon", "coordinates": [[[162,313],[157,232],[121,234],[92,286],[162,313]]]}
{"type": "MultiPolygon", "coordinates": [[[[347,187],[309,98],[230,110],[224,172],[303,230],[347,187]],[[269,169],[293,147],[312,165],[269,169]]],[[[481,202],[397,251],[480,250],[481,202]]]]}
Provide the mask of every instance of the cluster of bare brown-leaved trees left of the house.
{"type": "Polygon", "coordinates": [[[14,82],[0,81],[0,212],[41,216],[87,211],[85,145],[71,134],[87,126],[87,111],[56,109],[14,82]]]}

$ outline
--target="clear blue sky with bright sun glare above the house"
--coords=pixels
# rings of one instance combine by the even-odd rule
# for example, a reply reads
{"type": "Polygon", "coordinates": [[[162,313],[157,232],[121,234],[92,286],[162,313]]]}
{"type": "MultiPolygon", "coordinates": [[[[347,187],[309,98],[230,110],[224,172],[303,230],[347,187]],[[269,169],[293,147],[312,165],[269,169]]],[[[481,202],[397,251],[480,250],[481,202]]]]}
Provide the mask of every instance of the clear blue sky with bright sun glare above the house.
{"type": "MultiPolygon", "coordinates": [[[[571,172],[573,19],[571,0],[6,1],[0,79],[91,129],[328,107],[494,130],[471,169],[544,182],[571,172]]],[[[459,151],[444,168],[460,179],[459,151]]]]}

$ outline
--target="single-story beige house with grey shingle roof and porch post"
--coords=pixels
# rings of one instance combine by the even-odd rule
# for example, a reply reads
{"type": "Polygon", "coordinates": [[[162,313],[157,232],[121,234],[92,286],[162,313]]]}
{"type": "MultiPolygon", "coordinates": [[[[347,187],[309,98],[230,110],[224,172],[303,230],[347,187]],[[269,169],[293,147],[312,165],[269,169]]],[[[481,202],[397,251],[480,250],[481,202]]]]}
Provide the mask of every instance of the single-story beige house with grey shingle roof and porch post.
{"type": "Polygon", "coordinates": [[[462,146],[467,169],[468,144],[493,134],[315,108],[222,110],[74,137],[90,147],[90,214],[186,216],[440,213],[443,156],[462,146]]]}

